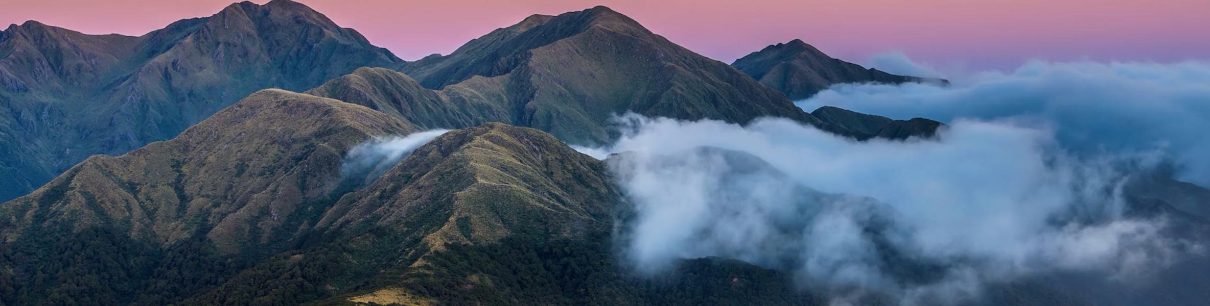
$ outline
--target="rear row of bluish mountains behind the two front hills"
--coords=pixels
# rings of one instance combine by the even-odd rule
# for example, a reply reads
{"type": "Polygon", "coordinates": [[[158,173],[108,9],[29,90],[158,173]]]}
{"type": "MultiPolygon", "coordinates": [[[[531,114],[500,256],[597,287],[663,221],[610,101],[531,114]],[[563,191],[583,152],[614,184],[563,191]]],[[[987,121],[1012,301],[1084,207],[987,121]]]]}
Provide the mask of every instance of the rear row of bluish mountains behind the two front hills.
{"type": "MultiPolygon", "coordinates": [[[[843,63],[800,58],[812,56],[843,63]]],[[[169,139],[263,88],[310,90],[419,128],[505,122],[576,144],[616,137],[609,121],[624,112],[737,123],[779,116],[869,137],[799,110],[784,86],[772,87],[779,94],[741,71],[603,6],[535,15],[416,62],[288,0],[232,4],[138,37],[27,22],[0,33],[0,200],[88,156],[169,139]]],[[[882,81],[843,77],[829,80],[882,81]]],[[[811,86],[794,91],[823,88],[811,86]]]]}

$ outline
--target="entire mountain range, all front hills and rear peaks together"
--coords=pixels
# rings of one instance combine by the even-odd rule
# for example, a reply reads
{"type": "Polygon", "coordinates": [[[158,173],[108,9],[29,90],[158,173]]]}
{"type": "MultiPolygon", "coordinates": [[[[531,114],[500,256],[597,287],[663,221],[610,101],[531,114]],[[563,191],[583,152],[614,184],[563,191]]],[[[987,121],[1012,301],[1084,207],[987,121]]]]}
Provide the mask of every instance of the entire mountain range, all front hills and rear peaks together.
{"type": "MultiPolygon", "coordinates": [[[[27,22],[0,33],[0,305],[826,305],[734,259],[624,272],[613,235],[633,212],[611,168],[627,155],[567,144],[607,144],[628,112],[928,140],[945,126],[793,99],[930,81],[799,40],[727,65],[604,6],[415,62],[289,0],[137,37],[27,22]],[[350,173],[355,148],[428,129],[453,131],[350,173]]],[[[1210,195],[1147,184],[1186,196],[1139,192],[1153,213],[1210,195]]],[[[1202,213],[1177,220],[1210,232],[1202,213]]],[[[1061,284],[998,284],[986,304],[1102,301],[1061,284]]]]}

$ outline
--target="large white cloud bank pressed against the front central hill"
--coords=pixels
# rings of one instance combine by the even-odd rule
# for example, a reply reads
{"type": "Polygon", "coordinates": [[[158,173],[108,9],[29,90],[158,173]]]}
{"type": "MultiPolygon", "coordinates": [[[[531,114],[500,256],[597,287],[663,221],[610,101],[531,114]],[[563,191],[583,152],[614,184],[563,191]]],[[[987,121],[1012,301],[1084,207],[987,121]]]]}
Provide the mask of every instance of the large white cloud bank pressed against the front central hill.
{"type": "MultiPolygon", "coordinates": [[[[1131,278],[1171,264],[1163,220],[1125,218],[1136,156],[1068,154],[1050,129],[955,120],[939,140],[854,142],[782,119],[627,116],[609,158],[645,273],[725,256],[905,304],[1050,271],[1131,278]]],[[[929,304],[929,302],[924,302],[929,304]]]]}

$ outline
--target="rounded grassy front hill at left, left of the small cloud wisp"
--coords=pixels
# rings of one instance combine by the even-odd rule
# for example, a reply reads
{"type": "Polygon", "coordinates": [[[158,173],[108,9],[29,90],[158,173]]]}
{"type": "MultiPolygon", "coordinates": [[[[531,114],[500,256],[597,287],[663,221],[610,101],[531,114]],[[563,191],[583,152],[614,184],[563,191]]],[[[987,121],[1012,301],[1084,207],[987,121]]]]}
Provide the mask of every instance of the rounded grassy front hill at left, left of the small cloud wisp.
{"type": "Polygon", "coordinates": [[[0,301],[155,305],[214,285],[319,220],[345,192],[348,148],[407,132],[363,106],[265,90],[172,140],[91,157],[0,204],[15,259],[0,270],[19,284],[0,301]]]}

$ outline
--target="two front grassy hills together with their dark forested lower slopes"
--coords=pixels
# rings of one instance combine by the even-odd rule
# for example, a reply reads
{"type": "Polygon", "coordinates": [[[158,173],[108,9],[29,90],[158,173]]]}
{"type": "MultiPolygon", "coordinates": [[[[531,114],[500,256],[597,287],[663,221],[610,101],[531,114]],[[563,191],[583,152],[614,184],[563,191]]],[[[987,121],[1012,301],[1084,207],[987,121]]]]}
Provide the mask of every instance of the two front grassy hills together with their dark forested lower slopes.
{"type": "Polygon", "coordinates": [[[413,128],[266,90],[172,140],[92,157],[0,204],[0,302],[812,301],[733,260],[624,273],[605,163],[537,129],[454,131],[364,186],[341,177],[350,148],[413,128]]]}

